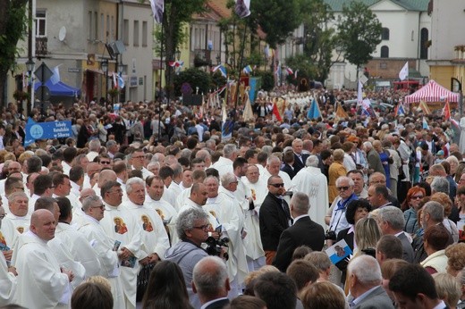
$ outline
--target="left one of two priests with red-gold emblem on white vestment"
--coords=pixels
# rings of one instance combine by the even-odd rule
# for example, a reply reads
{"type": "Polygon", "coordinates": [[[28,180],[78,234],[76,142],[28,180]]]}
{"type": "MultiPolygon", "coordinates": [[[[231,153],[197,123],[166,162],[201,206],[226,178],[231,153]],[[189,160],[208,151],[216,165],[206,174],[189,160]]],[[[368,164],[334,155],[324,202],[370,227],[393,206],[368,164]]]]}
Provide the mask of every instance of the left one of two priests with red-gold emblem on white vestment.
{"type": "Polygon", "coordinates": [[[118,247],[118,256],[122,260],[121,279],[123,283],[124,302],[126,308],[136,307],[137,275],[139,260],[147,257],[140,250],[142,246],[142,228],[135,215],[123,207],[123,190],[116,181],[108,181],[101,188],[105,205],[105,216],[100,221],[106,236],[113,238],[118,247]]]}

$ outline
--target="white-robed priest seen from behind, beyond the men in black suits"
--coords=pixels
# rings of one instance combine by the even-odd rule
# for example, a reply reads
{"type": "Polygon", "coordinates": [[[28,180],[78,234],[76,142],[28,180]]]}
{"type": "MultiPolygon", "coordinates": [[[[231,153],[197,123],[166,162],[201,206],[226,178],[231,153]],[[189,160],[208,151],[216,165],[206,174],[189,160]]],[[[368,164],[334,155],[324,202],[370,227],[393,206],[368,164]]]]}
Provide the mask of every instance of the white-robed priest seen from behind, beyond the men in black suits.
{"type": "Polygon", "coordinates": [[[317,155],[310,155],[305,164],[307,167],[301,169],[292,179],[292,190],[309,196],[310,218],[319,225],[325,226],[325,215],[329,204],[326,176],[318,167],[317,155]]]}

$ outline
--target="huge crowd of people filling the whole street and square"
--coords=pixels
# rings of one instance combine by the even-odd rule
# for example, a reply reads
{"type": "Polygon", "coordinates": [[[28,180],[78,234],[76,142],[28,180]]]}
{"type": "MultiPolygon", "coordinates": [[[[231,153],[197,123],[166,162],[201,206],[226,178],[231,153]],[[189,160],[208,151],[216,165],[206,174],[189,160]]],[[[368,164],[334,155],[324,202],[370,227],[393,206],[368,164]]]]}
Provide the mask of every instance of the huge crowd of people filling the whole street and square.
{"type": "Polygon", "coordinates": [[[465,118],[355,97],[259,91],[247,121],[234,104],[56,104],[28,116],[72,137],[26,146],[9,104],[0,306],[464,308],[465,118]]]}

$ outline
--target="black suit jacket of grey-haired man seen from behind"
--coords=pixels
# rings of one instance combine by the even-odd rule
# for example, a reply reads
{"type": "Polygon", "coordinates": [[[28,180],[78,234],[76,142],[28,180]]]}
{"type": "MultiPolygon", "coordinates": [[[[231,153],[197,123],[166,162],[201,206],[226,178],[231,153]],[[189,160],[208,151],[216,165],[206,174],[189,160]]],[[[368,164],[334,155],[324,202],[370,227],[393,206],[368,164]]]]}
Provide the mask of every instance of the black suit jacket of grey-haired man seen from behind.
{"type": "Polygon", "coordinates": [[[313,251],[321,251],[325,244],[325,230],[309,216],[300,218],[292,227],[283,231],[273,265],[286,271],[292,262],[292,254],[298,246],[309,246],[313,251]]]}

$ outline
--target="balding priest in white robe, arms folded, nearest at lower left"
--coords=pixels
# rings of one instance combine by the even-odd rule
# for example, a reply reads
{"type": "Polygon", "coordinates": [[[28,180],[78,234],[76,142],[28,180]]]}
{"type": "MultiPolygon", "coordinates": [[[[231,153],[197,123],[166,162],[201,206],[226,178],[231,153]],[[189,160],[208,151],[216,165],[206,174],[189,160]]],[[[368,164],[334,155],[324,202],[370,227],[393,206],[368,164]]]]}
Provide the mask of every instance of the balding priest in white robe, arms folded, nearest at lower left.
{"type": "Polygon", "coordinates": [[[14,303],[30,309],[68,308],[72,271],[60,268],[47,242],[55,237],[55,217],[47,209],[32,213],[30,230],[21,235],[18,286],[14,303]]]}

